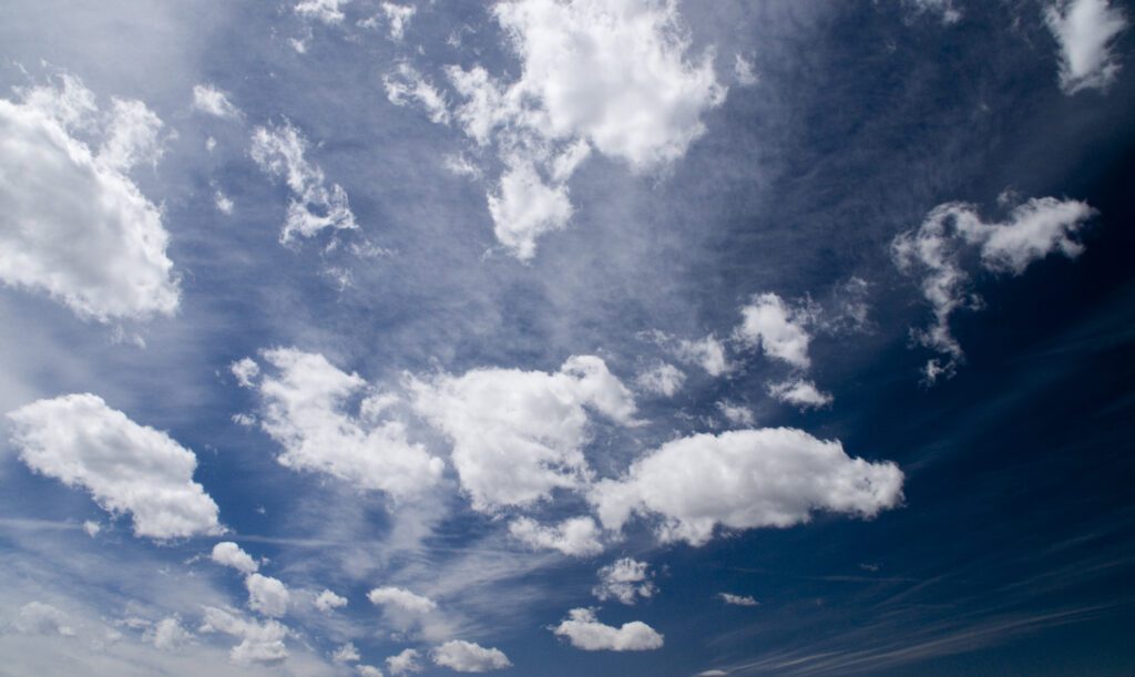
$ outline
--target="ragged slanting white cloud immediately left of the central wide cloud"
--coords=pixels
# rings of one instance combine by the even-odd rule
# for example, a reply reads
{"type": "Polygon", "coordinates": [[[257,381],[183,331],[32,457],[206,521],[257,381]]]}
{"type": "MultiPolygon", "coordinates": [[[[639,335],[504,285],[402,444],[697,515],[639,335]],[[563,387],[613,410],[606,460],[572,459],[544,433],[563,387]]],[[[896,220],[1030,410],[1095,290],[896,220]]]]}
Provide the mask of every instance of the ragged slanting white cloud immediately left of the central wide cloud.
{"type": "MultiPolygon", "coordinates": [[[[274,370],[254,387],[263,403],[261,426],[284,447],[280,464],[395,498],[438,481],[442,459],[406,439],[405,425],[387,414],[393,401],[373,392],[359,374],[295,348],[266,350],[263,359],[274,370]],[[356,396],[363,396],[358,414],[348,411],[348,400],[356,396]]],[[[237,378],[250,373],[241,367],[237,378]]],[[[251,383],[252,378],[246,380],[251,383]]]]}

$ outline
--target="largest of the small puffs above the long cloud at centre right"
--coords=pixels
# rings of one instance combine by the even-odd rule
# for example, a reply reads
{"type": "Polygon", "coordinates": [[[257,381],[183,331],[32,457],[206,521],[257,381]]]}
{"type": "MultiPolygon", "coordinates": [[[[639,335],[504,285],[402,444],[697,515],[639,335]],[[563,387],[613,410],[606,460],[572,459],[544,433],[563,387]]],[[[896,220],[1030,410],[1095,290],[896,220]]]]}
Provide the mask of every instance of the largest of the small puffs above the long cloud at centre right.
{"type": "Polygon", "coordinates": [[[790,307],[775,294],[759,294],[741,308],[742,321],[734,331],[738,340],[749,347],[760,347],[765,355],[799,369],[808,369],[808,344],[812,336],[807,325],[812,312],[790,307]]]}

